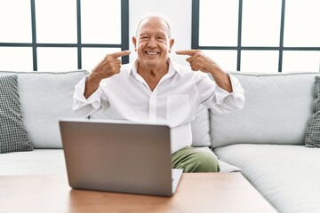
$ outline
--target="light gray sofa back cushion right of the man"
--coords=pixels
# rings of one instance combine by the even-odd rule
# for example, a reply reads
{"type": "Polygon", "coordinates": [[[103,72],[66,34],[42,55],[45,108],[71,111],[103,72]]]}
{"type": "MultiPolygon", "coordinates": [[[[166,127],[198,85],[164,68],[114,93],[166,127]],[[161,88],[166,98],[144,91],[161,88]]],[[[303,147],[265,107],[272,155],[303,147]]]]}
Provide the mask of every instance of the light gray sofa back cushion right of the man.
{"type": "Polygon", "coordinates": [[[212,146],[232,144],[304,144],[319,73],[245,74],[232,72],[244,87],[240,111],[210,110],[212,146]]]}

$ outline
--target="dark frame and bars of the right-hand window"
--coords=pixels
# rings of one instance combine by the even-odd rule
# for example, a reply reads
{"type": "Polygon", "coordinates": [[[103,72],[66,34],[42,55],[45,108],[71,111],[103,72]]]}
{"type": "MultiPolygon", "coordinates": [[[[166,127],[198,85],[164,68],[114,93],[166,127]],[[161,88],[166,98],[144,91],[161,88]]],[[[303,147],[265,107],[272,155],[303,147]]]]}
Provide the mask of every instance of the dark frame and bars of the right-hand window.
{"type": "MultiPolygon", "coordinates": [[[[198,50],[232,50],[237,51],[236,71],[240,71],[241,67],[241,52],[242,51],[279,51],[278,72],[282,72],[284,51],[320,51],[320,47],[284,47],[284,12],[285,0],[282,0],[281,5],[281,23],[280,36],[278,46],[242,46],[242,14],[243,14],[243,0],[239,0],[238,8],[238,32],[236,46],[200,46],[199,45],[199,17],[200,17],[200,0],[192,0],[192,33],[191,33],[191,48],[198,50]]],[[[320,69],[320,67],[319,67],[320,69]]],[[[319,70],[320,72],[320,70],[319,70]]]]}

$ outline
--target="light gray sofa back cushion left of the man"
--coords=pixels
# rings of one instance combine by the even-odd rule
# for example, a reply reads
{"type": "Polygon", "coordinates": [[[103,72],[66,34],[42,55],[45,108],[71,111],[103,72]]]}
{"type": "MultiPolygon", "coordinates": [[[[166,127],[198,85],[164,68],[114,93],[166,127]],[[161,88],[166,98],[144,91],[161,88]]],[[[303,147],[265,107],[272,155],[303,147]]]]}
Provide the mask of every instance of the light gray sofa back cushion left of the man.
{"type": "Polygon", "coordinates": [[[35,148],[61,148],[58,121],[72,116],[75,85],[88,72],[0,71],[1,75],[18,75],[21,111],[32,145],[35,148]]]}

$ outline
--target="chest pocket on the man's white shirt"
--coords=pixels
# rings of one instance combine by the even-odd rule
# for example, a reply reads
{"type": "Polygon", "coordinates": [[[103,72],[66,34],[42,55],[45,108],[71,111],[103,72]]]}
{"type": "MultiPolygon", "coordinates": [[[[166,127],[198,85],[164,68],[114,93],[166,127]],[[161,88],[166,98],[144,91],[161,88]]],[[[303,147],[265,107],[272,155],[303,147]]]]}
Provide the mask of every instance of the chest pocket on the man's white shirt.
{"type": "Polygon", "coordinates": [[[167,97],[167,120],[182,122],[188,119],[190,104],[188,95],[172,95],[167,97]]]}

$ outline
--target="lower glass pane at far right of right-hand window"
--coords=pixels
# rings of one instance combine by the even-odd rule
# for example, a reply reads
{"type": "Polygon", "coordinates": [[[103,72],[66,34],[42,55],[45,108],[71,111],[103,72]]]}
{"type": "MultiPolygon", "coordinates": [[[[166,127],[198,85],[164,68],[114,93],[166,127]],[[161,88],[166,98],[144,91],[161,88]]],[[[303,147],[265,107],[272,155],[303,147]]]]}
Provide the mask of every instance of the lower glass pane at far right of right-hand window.
{"type": "Polygon", "coordinates": [[[320,51],[284,51],[283,72],[320,72],[320,51]]]}

